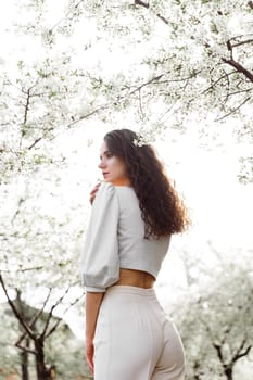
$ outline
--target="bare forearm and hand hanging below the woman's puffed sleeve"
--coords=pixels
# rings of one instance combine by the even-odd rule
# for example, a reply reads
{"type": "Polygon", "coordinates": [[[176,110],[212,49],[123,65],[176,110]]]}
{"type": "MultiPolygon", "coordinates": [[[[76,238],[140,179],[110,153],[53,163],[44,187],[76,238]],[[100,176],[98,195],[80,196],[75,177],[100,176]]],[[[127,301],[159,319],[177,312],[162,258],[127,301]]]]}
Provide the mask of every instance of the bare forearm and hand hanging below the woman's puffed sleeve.
{"type": "Polygon", "coordinates": [[[86,359],[91,372],[93,372],[93,338],[103,295],[104,293],[86,293],[86,359]]]}

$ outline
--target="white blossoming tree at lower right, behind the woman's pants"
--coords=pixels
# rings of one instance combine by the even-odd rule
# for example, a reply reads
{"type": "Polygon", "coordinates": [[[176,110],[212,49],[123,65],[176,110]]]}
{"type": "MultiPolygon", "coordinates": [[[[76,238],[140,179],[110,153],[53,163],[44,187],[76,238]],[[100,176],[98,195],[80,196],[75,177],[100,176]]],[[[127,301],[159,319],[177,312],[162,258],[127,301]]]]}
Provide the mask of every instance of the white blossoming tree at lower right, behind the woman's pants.
{"type": "MultiPolygon", "coordinates": [[[[229,261],[215,254],[214,267],[207,269],[210,277],[205,271],[191,282],[185,317],[179,316],[189,379],[231,380],[240,360],[250,358],[253,346],[250,255],[244,252],[229,261]]],[[[204,262],[202,265],[204,268],[204,262]]]]}

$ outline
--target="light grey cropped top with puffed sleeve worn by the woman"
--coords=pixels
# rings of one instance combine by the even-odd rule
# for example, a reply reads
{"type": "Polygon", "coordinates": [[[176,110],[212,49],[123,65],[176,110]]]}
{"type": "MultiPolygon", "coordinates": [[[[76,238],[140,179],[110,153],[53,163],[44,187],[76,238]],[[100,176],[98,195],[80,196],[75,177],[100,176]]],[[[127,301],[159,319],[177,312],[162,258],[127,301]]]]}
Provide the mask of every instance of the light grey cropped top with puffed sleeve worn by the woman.
{"type": "Polygon", "coordinates": [[[97,192],[81,257],[88,292],[105,292],[118,281],[119,268],[157,277],[170,237],[144,239],[138,198],[130,187],[103,182],[97,192]]]}

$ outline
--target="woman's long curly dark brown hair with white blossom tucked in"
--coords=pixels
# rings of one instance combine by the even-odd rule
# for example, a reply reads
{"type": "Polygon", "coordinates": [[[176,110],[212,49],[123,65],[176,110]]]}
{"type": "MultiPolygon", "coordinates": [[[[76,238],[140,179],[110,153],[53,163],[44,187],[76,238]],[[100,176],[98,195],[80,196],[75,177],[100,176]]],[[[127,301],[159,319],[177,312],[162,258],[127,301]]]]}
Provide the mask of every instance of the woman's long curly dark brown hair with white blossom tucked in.
{"type": "Polygon", "coordinates": [[[121,157],[139,200],[144,237],[166,237],[186,230],[186,206],[165,174],[164,165],[150,144],[138,144],[130,129],[114,129],[104,136],[112,154],[121,157]]]}

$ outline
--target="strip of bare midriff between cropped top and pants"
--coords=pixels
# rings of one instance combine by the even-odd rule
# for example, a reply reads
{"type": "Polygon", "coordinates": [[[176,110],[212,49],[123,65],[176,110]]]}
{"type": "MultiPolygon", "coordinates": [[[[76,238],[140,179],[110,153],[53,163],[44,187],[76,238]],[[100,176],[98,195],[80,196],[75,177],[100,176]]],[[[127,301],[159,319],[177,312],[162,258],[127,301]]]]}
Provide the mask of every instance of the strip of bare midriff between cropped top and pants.
{"type": "Polygon", "coordinates": [[[149,289],[154,282],[155,278],[147,271],[121,268],[119,280],[115,284],[149,289]]]}

